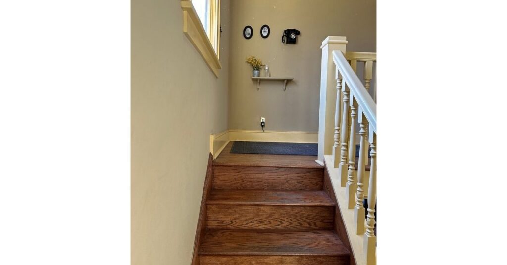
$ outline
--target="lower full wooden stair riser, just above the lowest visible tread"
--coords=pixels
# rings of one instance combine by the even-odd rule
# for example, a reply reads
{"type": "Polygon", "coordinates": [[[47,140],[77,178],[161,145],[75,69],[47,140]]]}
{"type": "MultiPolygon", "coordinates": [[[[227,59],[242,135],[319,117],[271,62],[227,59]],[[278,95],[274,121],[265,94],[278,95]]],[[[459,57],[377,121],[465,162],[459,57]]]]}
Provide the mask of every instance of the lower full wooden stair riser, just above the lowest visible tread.
{"type": "Polygon", "coordinates": [[[333,229],[334,206],[207,205],[208,229],[333,229]]]}

